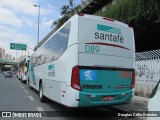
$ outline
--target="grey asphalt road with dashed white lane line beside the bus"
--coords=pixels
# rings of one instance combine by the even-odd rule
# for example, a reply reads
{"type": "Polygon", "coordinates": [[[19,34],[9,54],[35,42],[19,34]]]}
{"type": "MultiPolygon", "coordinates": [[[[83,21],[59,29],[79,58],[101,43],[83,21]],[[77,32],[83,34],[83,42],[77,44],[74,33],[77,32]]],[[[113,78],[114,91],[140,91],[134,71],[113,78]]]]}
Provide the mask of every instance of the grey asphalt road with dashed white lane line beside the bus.
{"type": "MultiPolygon", "coordinates": [[[[42,115],[45,116],[41,119],[45,120],[46,119],[54,119],[54,120],[135,119],[135,118],[125,118],[125,117],[118,118],[117,117],[118,111],[112,107],[69,109],[50,100],[47,100],[46,103],[41,103],[39,100],[38,92],[33,88],[30,88],[25,83],[22,83],[20,80],[18,80],[16,78],[16,75],[13,75],[12,78],[9,77],[5,78],[4,75],[0,73],[0,112],[4,111],[12,111],[12,112],[18,111],[20,113],[30,112],[30,111],[34,112],[41,111],[42,115]],[[90,112],[91,110],[94,112],[90,112]]],[[[0,120],[2,119],[4,118],[1,117],[0,120]]],[[[18,119],[18,118],[10,118],[10,119],[18,119]]],[[[40,118],[37,119],[39,120],[40,118]]]]}

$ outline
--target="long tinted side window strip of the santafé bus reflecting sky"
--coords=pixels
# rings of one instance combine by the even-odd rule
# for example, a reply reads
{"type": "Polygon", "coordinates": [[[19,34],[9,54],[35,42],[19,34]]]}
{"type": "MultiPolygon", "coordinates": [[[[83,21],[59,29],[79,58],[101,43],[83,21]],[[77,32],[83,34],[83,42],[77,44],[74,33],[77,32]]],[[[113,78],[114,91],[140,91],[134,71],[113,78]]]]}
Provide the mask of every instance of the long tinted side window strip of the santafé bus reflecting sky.
{"type": "Polygon", "coordinates": [[[68,23],[37,50],[33,58],[34,66],[55,61],[61,57],[67,49],[70,24],[68,23]]]}

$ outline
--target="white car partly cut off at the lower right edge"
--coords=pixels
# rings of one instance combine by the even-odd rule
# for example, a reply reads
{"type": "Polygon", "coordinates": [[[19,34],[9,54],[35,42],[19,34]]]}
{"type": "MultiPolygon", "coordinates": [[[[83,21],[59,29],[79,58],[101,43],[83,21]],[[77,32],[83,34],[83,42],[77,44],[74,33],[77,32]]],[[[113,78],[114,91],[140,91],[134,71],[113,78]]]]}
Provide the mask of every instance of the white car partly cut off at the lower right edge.
{"type": "MultiPolygon", "coordinates": [[[[153,114],[160,113],[160,80],[155,86],[155,88],[152,90],[152,94],[148,100],[148,112],[152,113],[152,111],[153,111],[153,114]]],[[[148,117],[147,120],[160,120],[160,116],[148,117]]]]}

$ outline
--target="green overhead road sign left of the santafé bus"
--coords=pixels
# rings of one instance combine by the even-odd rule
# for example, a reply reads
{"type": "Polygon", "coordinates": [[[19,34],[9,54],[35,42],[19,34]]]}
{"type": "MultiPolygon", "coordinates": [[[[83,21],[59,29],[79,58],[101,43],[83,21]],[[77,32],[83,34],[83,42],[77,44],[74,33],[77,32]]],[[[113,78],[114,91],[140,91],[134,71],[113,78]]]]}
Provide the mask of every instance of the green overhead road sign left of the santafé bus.
{"type": "Polygon", "coordinates": [[[26,44],[10,43],[10,49],[26,50],[27,49],[27,45],[26,44]]]}

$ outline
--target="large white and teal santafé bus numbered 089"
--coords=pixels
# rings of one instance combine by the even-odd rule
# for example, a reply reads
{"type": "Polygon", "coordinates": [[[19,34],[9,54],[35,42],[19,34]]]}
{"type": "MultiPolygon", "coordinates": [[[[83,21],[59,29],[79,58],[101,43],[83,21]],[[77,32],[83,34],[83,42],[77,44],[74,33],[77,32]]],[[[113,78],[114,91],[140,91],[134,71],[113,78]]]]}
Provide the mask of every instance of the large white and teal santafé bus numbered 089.
{"type": "Polygon", "coordinates": [[[68,107],[123,104],[135,85],[135,44],[128,25],[74,15],[30,57],[29,85],[68,107]]]}

